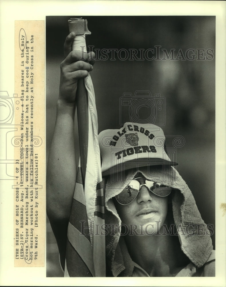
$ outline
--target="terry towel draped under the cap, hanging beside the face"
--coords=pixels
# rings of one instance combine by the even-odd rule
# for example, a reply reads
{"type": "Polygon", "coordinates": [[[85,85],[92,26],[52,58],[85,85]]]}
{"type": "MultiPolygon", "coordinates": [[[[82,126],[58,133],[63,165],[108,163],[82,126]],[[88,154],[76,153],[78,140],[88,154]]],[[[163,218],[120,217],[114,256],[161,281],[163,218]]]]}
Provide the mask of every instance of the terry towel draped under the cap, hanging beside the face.
{"type": "MultiPolygon", "coordinates": [[[[109,230],[106,235],[106,258],[113,276],[118,276],[122,271],[125,272],[125,261],[127,260],[125,256],[127,255],[123,254],[123,243],[120,239],[121,230],[118,227],[122,222],[112,197],[119,194],[137,172],[141,172],[146,179],[173,188],[171,193],[173,219],[181,249],[198,268],[203,266],[209,258],[213,246],[209,235],[210,231],[201,218],[191,190],[173,166],[140,167],[126,170],[118,175],[110,175],[105,177],[103,181],[106,205],[105,223],[111,224],[111,228],[114,228],[114,230],[109,230]],[[201,232],[199,229],[194,228],[200,224],[202,225],[201,232]],[[193,230],[192,233],[191,229],[193,230]]],[[[123,276],[126,276],[126,274],[123,276]]]]}

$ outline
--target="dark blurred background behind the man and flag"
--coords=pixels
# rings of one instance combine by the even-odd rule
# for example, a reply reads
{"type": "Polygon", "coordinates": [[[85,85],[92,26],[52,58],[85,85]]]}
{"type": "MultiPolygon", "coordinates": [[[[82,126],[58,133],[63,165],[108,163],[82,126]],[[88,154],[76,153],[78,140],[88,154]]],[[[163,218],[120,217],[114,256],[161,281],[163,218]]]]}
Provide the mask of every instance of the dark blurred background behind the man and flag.
{"type": "MultiPolygon", "coordinates": [[[[64,40],[72,17],[46,17],[47,159],[55,124],[64,40]]],[[[213,224],[215,230],[215,16],[80,17],[88,20],[92,34],[86,37],[86,44],[88,50],[90,46],[90,50],[96,51],[98,58],[91,77],[99,132],[119,128],[121,123],[132,120],[129,105],[122,104],[124,94],[137,98],[136,91],[149,91],[156,111],[154,123],[163,129],[167,148],[173,148],[176,136],[185,140],[176,149],[177,170],[193,192],[203,220],[213,224]],[[159,55],[155,46],[161,46],[159,55]],[[101,59],[103,49],[110,50],[101,59]],[[123,50],[112,57],[112,49],[123,50]],[[126,59],[126,51],[130,55],[131,49],[138,50],[136,60],[126,59]],[[142,49],[143,53],[154,49],[154,53],[148,53],[149,59],[153,54],[160,60],[144,59],[142,49]],[[177,60],[171,57],[167,60],[166,56],[164,60],[163,49],[168,54],[174,49],[173,59],[177,60]],[[180,49],[181,57],[177,57],[180,49]],[[194,54],[195,60],[187,59],[188,49],[195,50],[189,52],[189,57],[194,54]],[[202,49],[199,56],[198,49],[202,49]],[[207,54],[208,49],[212,49],[211,55],[207,54]],[[162,98],[161,110],[155,94],[162,98]]],[[[150,106],[137,112],[142,121],[148,119],[150,106]]],[[[211,237],[215,248],[215,234],[211,237]]],[[[63,276],[58,256],[47,218],[47,277],[63,276]]]]}

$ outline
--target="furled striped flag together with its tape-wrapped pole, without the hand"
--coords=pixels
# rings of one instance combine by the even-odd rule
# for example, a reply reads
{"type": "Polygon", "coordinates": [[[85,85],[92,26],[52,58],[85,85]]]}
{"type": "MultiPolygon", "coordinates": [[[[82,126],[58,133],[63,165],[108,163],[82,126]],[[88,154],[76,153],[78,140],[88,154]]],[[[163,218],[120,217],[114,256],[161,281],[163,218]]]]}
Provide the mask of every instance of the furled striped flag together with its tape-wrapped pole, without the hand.
{"type": "MultiPolygon", "coordinates": [[[[80,53],[81,51],[87,53],[85,36],[91,34],[87,28],[87,21],[82,18],[72,18],[68,21],[68,24],[70,32],[76,34],[72,50],[77,49],[80,53]]],[[[98,144],[97,110],[90,75],[78,81],[76,105],[78,108],[82,181],[78,168],[75,198],[72,203],[72,216],[68,226],[68,241],[70,244],[67,245],[67,250],[70,251],[66,254],[66,274],[69,270],[69,276],[105,277],[105,236],[100,234],[98,230],[98,226],[104,226],[105,224],[104,192],[101,185],[102,173],[98,144]],[[84,189],[81,188],[81,183],[83,183],[84,189]],[[75,232],[81,222],[86,222],[86,226],[90,230],[87,235],[89,239],[86,234],[75,232]],[[71,246],[72,249],[70,249],[71,246]]]]}

